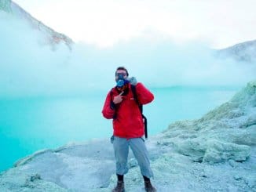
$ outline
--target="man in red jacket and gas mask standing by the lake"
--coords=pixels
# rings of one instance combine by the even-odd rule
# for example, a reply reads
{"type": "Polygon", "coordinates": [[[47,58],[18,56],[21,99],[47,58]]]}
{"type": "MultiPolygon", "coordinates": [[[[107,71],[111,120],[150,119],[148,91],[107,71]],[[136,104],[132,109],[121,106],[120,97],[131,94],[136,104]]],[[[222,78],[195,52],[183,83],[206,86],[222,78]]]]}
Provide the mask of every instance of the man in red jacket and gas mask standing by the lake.
{"type": "Polygon", "coordinates": [[[118,182],[112,191],[124,191],[123,176],[128,172],[127,158],[130,147],[141,168],[145,190],[153,192],[156,190],[150,182],[153,173],[144,144],[144,121],[138,103],[141,105],[150,103],[154,100],[154,96],[142,83],[137,83],[136,78],[128,78],[128,76],[125,67],[116,69],[117,85],[108,92],[102,110],[104,118],[113,119],[112,143],[118,182]],[[137,98],[133,96],[132,86],[135,88],[137,98]]]}

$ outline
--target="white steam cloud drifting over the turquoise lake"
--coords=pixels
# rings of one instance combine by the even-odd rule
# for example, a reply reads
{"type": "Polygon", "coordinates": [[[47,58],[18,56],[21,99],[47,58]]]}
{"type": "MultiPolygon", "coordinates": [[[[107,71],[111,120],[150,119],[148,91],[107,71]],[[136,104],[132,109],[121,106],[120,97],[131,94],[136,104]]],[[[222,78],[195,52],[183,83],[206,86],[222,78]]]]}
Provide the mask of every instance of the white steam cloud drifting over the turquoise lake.
{"type": "Polygon", "coordinates": [[[193,42],[175,45],[155,35],[133,38],[108,49],[77,44],[56,50],[25,22],[0,12],[0,97],[77,96],[115,85],[115,68],[151,87],[245,85],[256,77],[253,63],[218,60],[193,42]],[[152,40],[155,39],[155,40],[152,40]]]}

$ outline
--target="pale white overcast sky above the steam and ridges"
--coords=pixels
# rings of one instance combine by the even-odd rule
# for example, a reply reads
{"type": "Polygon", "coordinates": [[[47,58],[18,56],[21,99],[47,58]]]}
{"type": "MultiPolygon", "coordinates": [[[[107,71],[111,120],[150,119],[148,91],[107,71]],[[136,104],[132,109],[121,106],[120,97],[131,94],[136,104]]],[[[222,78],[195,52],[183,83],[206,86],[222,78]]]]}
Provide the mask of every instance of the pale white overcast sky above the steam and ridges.
{"type": "Polygon", "coordinates": [[[225,48],[255,39],[254,0],[14,0],[75,42],[106,47],[141,36],[225,48]]]}

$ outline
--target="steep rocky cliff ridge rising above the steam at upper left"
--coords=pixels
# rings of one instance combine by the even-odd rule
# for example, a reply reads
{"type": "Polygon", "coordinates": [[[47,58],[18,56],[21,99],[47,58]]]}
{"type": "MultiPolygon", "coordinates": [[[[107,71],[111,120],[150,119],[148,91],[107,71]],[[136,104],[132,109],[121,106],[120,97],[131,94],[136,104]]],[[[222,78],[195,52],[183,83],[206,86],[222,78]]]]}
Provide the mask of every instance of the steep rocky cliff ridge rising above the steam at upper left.
{"type": "Polygon", "coordinates": [[[45,24],[42,24],[41,21],[35,19],[15,2],[10,0],[1,0],[0,10],[12,14],[21,20],[26,20],[28,24],[31,25],[32,29],[42,32],[43,36],[45,37],[44,41],[46,44],[54,46],[59,43],[64,43],[69,49],[71,49],[71,45],[73,44],[71,38],[68,38],[68,36],[60,34],[57,31],[54,31],[52,28],[47,27],[45,24]]]}

